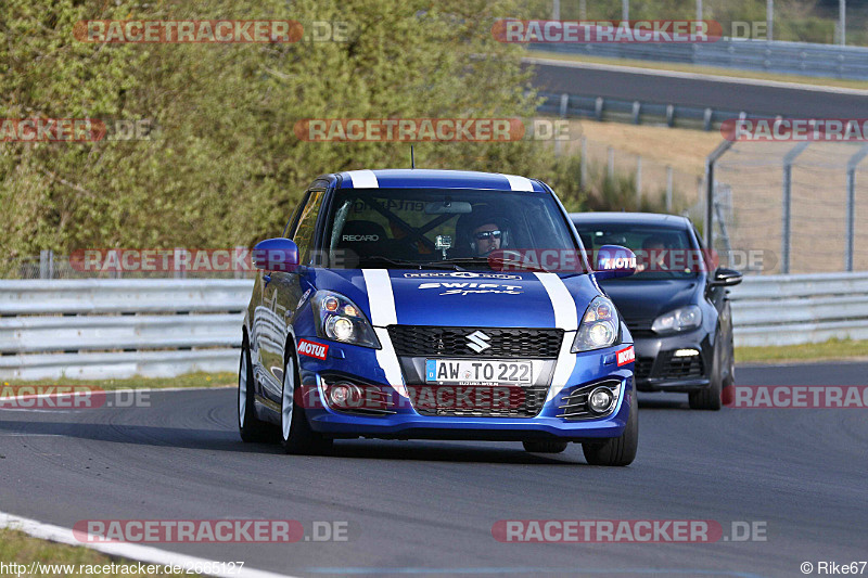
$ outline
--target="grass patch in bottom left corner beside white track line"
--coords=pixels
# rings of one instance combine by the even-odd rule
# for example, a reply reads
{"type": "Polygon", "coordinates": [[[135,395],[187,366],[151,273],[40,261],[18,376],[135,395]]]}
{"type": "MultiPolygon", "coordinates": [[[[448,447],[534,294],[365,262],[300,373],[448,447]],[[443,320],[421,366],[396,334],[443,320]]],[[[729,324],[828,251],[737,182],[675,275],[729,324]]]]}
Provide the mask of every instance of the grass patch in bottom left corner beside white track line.
{"type": "MultiPolygon", "coordinates": [[[[0,562],[5,564],[9,563],[16,563],[16,564],[24,564],[28,566],[22,576],[76,576],[81,578],[92,578],[93,576],[128,576],[128,577],[153,577],[153,576],[173,576],[170,574],[142,574],[138,571],[139,564],[137,562],[132,562],[129,560],[118,558],[114,556],[107,556],[94,550],[87,549],[85,547],[74,547],[74,545],[66,545],[66,544],[59,544],[55,542],[50,542],[48,540],[40,540],[38,538],[33,538],[27,536],[23,531],[18,530],[11,530],[11,529],[0,529],[0,562]],[[41,564],[73,564],[74,571],[67,574],[63,571],[61,568],[54,568],[56,571],[49,571],[48,568],[43,568],[43,571],[40,574],[36,571],[35,574],[29,573],[29,565],[33,562],[39,562],[41,564]],[[91,571],[90,574],[87,573],[87,566],[104,566],[106,564],[115,564],[115,565],[128,565],[128,569],[130,574],[124,574],[123,570],[119,568],[115,568],[115,571],[108,573],[95,573],[91,571]],[[81,568],[81,565],[85,565],[81,568]],[[79,571],[85,570],[85,571],[79,571]]],[[[100,568],[108,569],[111,568],[100,568]]],[[[161,567],[162,569],[162,567],[161,567]]],[[[16,576],[14,573],[7,571],[4,576],[16,576]]],[[[180,576],[180,575],[175,575],[180,576]]]]}

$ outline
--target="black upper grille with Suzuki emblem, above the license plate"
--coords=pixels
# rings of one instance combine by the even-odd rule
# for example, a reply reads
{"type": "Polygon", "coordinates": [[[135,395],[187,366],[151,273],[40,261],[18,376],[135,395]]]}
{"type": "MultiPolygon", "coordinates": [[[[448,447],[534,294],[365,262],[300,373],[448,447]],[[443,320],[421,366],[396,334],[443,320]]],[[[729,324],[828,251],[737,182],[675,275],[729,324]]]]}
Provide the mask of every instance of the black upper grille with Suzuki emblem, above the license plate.
{"type": "Polygon", "coordinates": [[[563,330],[390,325],[388,336],[399,356],[554,359],[563,330]],[[476,331],[489,337],[489,347],[478,352],[468,347],[468,336],[476,331]]]}

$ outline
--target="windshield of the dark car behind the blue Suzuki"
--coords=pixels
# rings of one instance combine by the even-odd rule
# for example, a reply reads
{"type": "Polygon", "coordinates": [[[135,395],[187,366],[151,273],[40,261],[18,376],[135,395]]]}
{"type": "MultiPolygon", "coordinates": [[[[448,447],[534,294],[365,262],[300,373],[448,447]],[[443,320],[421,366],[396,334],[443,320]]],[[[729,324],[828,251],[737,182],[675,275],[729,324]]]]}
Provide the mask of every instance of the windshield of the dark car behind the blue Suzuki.
{"type": "Polygon", "coordinates": [[[603,245],[622,245],[636,254],[636,273],[618,281],[692,279],[705,270],[702,252],[684,229],[580,222],[576,230],[591,255],[603,245]]]}

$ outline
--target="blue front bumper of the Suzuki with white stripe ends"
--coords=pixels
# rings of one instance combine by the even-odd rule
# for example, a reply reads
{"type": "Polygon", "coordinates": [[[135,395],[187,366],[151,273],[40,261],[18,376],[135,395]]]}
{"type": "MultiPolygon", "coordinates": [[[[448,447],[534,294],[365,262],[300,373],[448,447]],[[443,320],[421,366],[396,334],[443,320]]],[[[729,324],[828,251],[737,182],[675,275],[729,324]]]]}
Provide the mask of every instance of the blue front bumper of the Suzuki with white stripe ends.
{"type": "MultiPolygon", "coordinates": [[[[308,338],[311,341],[312,338],[308,338]]],[[[569,337],[572,343],[572,336],[569,337]]],[[[635,395],[633,363],[617,365],[615,352],[629,344],[559,358],[558,363],[573,363],[564,387],[552,383],[546,401],[535,416],[505,418],[481,415],[423,415],[410,399],[410,389],[390,384],[386,372],[372,349],[330,344],[326,360],[299,359],[302,383],[316,384],[318,399],[308,400],[306,414],[314,431],[333,438],[372,437],[385,439],[471,439],[471,440],[535,440],[560,439],[585,441],[620,436],[626,426],[630,398],[635,395]],[[388,413],[378,415],[337,411],[326,403],[326,385],[345,381],[376,384],[391,393],[397,402],[388,413]],[[564,414],[564,398],[589,384],[617,382],[617,399],[609,414],[602,418],[569,419],[564,414]],[[381,385],[384,384],[384,385],[381,385]],[[401,395],[404,394],[404,395],[401,395]]],[[[563,354],[562,354],[563,357],[563,354]]],[[[404,375],[404,372],[401,373],[404,375]]],[[[416,398],[414,398],[416,399],[416,398]]]]}

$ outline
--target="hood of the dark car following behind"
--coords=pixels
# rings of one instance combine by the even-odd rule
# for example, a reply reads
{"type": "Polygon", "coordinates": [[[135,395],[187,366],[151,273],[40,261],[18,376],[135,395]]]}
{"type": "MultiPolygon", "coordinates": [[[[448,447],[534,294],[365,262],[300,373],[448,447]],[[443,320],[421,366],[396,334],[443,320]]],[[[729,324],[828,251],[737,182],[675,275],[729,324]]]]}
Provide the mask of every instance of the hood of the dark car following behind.
{"type": "Polygon", "coordinates": [[[678,307],[695,304],[700,279],[602,281],[607,295],[629,321],[653,321],[678,307]]]}

